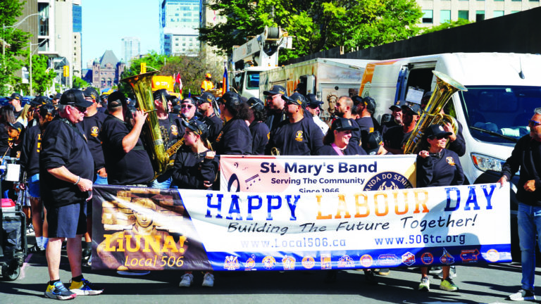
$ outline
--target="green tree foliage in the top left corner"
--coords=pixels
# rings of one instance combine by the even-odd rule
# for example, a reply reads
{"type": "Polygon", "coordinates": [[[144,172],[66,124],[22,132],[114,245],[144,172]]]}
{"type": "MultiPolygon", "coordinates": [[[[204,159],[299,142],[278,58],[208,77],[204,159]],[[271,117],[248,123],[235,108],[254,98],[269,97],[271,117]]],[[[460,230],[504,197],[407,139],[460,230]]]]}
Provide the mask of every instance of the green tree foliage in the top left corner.
{"type": "Polygon", "coordinates": [[[28,45],[30,34],[13,27],[17,17],[23,13],[23,6],[18,0],[0,1],[0,19],[3,27],[0,32],[2,44],[1,70],[0,70],[0,94],[10,94],[17,79],[13,76],[16,70],[23,66],[23,60],[16,56],[25,56],[23,49],[28,45]]]}

